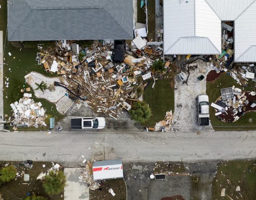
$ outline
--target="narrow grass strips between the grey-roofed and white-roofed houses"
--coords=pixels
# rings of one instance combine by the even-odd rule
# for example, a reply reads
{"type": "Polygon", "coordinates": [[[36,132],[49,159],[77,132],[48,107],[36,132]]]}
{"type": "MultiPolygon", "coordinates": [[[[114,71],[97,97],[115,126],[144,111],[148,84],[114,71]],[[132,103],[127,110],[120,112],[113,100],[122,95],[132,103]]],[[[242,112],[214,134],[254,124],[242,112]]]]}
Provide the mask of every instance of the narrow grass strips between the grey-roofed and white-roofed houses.
{"type": "MultiPolygon", "coordinates": [[[[148,0],[149,6],[148,8],[148,39],[153,39],[155,41],[155,23],[156,23],[156,2],[155,0],[148,0]]],[[[137,22],[138,23],[146,23],[146,14],[143,8],[140,8],[140,0],[137,1],[137,22]]]]}

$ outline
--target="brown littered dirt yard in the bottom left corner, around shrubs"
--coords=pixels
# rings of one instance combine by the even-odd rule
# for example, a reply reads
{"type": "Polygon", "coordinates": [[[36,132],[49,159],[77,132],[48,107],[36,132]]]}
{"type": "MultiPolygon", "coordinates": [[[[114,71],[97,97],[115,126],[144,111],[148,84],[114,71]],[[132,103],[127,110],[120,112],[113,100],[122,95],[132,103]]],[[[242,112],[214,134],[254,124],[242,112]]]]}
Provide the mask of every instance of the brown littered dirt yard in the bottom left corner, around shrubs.
{"type": "Polygon", "coordinates": [[[53,167],[52,162],[33,162],[33,167],[30,169],[22,165],[21,162],[0,161],[0,168],[3,168],[7,163],[13,165],[19,174],[21,174],[22,171],[24,171],[25,174],[29,174],[29,181],[24,181],[24,177],[22,176],[17,177],[16,181],[13,180],[2,184],[0,194],[4,200],[20,200],[26,197],[27,193],[43,196],[48,200],[64,200],[64,191],[58,195],[49,196],[44,191],[42,181],[36,180],[41,172],[45,173],[47,169],[53,167]],[[46,165],[45,168],[42,167],[43,164],[46,165]],[[22,183],[28,183],[28,185],[22,185],[22,183]]]}

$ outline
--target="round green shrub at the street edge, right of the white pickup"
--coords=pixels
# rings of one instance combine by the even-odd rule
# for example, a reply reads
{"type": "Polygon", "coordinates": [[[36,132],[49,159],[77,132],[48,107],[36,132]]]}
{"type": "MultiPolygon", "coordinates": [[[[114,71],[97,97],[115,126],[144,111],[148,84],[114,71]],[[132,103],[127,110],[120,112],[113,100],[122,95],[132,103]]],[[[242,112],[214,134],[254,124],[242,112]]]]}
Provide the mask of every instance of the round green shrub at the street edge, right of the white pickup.
{"type": "Polygon", "coordinates": [[[129,110],[131,118],[139,123],[145,123],[152,116],[151,109],[144,102],[135,102],[129,110]]]}

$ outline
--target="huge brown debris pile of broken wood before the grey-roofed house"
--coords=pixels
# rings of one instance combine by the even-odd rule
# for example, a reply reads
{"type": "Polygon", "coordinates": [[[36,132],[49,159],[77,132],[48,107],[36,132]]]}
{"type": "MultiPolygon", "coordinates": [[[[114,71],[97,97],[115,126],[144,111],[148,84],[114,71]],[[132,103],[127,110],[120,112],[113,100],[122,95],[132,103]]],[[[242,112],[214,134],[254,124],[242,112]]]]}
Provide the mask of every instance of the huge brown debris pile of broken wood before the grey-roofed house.
{"type": "Polygon", "coordinates": [[[87,103],[95,112],[116,118],[140,97],[138,87],[154,76],[151,65],[161,59],[163,49],[147,45],[138,35],[126,45],[97,40],[90,48],[62,40],[54,51],[42,50],[40,55],[37,59],[46,72],[66,78],[68,84],[55,82],[55,86],[66,88],[70,98],[87,103]]]}

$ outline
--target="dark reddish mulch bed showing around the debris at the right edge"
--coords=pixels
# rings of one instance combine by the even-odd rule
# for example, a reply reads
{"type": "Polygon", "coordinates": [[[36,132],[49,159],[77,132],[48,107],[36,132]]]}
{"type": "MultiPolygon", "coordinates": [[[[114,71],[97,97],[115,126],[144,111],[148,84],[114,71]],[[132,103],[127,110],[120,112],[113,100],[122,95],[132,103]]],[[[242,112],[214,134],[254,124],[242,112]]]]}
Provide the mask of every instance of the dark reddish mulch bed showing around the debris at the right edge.
{"type": "MultiPolygon", "coordinates": [[[[243,93],[243,92],[242,92],[243,93]]],[[[246,112],[249,112],[249,111],[256,111],[256,107],[252,108],[250,107],[250,105],[252,104],[252,101],[256,101],[256,96],[251,96],[249,95],[250,92],[245,92],[245,96],[247,97],[246,100],[249,101],[249,103],[245,106],[245,104],[243,104],[243,108],[245,107],[245,111],[243,111],[243,108],[242,108],[242,112],[239,112],[236,114],[236,116],[243,116],[244,113],[246,112]]],[[[236,99],[237,99],[237,96],[236,96],[236,99]]],[[[220,120],[223,120],[225,122],[233,122],[234,121],[234,112],[233,112],[234,108],[233,107],[230,107],[230,109],[226,110],[226,112],[228,114],[226,114],[225,112],[218,115],[217,117],[220,119],[220,120]]],[[[238,109],[236,109],[238,110],[238,109]]],[[[239,119],[238,119],[239,120],[239,119]]]]}

